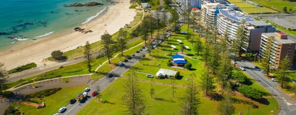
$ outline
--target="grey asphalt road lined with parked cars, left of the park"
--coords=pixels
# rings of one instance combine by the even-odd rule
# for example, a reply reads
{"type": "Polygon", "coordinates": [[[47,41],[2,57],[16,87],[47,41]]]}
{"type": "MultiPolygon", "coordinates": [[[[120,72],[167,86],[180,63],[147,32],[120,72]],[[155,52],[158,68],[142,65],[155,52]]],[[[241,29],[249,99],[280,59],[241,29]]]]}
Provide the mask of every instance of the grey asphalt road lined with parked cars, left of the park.
{"type": "MultiPolygon", "coordinates": [[[[136,64],[139,60],[140,60],[140,56],[141,55],[147,55],[148,52],[146,52],[144,49],[143,51],[141,51],[140,53],[135,53],[135,57],[133,57],[132,59],[130,59],[128,62],[123,62],[124,65],[122,66],[117,66],[115,67],[113,70],[111,70],[108,74],[114,74],[113,77],[108,78],[107,76],[104,76],[103,78],[99,79],[99,82],[96,83],[95,85],[93,85],[93,87],[91,87],[91,90],[88,92],[88,98],[83,101],[83,102],[76,102],[74,104],[68,104],[65,105],[66,107],[66,111],[64,111],[63,113],[60,113],[59,115],[75,115],[76,113],[78,113],[81,109],[83,109],[87,104],[89,104],[92,100],[95,99],[95,97],[92,97],[91,94],[96,91],[96,87],[99,86],[100,87],[100,91],[103,91],[105,88],[107,88],[111,83],[113,83],[117,77],[120,77],[120,75],[122,75],[125,71],[127,71],[131,66],[133,66],[134,64],[136,64]]],[[[81,91],[83,92],[83,91],[81,91]]],[[[73,97],[73,99],[76,97],[73,97]]],[[[69,100],[70,101],[70,100],[69,100]]],[[[62,107],[61,107],[62,108],[62,107]]],[[[56,112],[58,112],[58,110],[56,110],[56,112]]],[[[50,113],[51,115],[53,115],[54,113],[50,113]]]]}

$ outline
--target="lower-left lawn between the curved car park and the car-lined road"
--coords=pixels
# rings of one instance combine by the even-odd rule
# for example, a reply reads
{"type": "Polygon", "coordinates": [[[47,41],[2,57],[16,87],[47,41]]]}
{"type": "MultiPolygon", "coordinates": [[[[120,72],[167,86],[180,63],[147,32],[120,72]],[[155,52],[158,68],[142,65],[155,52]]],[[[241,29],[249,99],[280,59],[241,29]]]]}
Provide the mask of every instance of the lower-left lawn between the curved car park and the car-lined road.
{"type": "MultiPolygon", "coordinates": [[[[53,115],[58,112],[61,107],[64,107],[69,101],[76,97],[78,93],[81,93],[87,85],[63,87],[60,91],[53,95],[43,98],[40,100],[46,104],[45,108],[36,109],[36,107],[23,105],[23,104],[12,104],[13,107],[20,107],[19,111],[24,112],[26,115],[53,115]]],[[[38,100],[39,101],[39,100],[38,100]]],[[[77,103],[77,102],[76,102],[77,103]]]]}

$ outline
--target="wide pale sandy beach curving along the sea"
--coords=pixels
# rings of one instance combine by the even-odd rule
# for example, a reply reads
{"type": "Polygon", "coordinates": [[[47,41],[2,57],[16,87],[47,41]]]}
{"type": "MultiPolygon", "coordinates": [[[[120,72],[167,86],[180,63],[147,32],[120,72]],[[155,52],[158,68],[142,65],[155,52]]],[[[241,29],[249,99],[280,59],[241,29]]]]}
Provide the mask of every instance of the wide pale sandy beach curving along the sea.
{"type": "Polygon", "coordinates": [[[55,32],[35,43],[14,48],[13,52],[0,53],[0,62],[5,64],[4,67],[7,70],[31,62],[42,66],[44,64],[43,59],[50,57],[52,51],[61,50],[66,52],[78,46],[84,46],[86,41],[90,43],[97,42],[105,30],[109,34],[114,34],[121,27],[124,27],[126,23],[133,21],[136,15],[135,9],[129,9],[131,5],[129,3],[130,0],[115,1],[118,1],[118,3],[108,6],[103,14],[100,14],[86,24],[78,26],[94,32],[84,34],[70,29],[63,32],[55,32]]]}

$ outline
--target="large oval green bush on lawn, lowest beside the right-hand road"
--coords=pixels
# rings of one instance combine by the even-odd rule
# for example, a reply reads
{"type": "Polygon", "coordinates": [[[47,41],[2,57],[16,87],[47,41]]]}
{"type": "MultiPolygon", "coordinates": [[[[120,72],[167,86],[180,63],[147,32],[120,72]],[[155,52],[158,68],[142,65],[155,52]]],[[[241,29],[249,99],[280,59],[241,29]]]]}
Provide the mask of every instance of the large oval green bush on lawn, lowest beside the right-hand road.
{"type": "Polygon", "coordinates": [[[244,96],[252,99],[259,100],[262,98],[262,94],[259,90],[254,89],[250,86],[243,85],[237,88],[239,92],[241,92],[244,96]]]}

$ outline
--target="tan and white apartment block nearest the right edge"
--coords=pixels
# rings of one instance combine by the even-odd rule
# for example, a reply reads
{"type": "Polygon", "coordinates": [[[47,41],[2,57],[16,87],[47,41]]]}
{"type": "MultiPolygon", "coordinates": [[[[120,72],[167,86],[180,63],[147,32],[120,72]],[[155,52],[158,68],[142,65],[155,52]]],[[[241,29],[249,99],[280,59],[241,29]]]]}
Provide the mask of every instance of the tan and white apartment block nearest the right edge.
{"type": "Polygon", "coordinates": [[[270,51],[270,62],[274,65],[274,67],[277,68],[280,61],[286,56],[288,56],[291,62],[293,62],[296,43],[288,38],[288,34],[283,32],[262,33],[259,56],[261,58],[265,57],[264,51],[266,51],[268,39],[270,39],[269,37],[271,36],[275,37],[275,41],[273,41],[270,51]]]}

